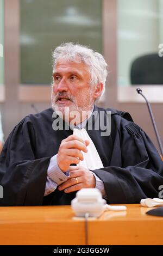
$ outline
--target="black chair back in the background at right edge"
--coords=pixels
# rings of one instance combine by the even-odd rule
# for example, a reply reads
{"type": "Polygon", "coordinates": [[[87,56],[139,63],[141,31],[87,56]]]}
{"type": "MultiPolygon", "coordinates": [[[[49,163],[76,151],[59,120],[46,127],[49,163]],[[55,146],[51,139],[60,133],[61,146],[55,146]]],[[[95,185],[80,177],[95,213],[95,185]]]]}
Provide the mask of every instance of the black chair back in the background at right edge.
{"type": "Polygon", "coordinates": [[[163,84],[163,57],[158,53],[136,58],[131,64],[131,84],[163,84]]]}

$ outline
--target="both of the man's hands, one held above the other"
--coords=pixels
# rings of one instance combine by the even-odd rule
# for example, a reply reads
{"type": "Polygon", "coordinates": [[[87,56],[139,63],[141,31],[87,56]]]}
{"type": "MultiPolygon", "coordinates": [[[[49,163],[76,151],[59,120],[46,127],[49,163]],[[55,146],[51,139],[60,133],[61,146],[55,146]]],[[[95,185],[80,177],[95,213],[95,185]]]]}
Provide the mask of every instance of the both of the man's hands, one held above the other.
{"type": "Polygon", "coordinates": [[[96,179],[91,170],[82,166],[70,166],[70,164],[79,163],[80,160],[83,161],[82,151],[87,152],[87,145],[89,145],[89,141],[83,141],[75,135],[70,135],[62,140],[57,155],[57,163],[62,172],[70,170],[70,177],[58,187],[59,190],[70,193],[81,188],[96,186],[96,179]]]}

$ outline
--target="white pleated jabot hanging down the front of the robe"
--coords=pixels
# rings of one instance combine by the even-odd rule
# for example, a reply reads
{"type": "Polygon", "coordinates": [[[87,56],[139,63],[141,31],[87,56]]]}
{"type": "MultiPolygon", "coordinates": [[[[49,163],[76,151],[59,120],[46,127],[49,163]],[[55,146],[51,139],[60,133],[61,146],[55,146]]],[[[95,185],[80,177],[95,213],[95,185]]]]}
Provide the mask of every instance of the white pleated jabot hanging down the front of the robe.
{"type": "Polygon", "coordinates": [[[80,161],[79,164],[77,164],[77,166],[80,165],[89,170],[103,168],[104,166],[101,161],[101,158],[98,155],[95,144],[92,142],[92,139],[88,135],[87,131],[84,128],[81,130],[73,128],[73,134],[83,139],[84,141],[87,139],[90,142],[90,144],[87,146],[87,153],[82,152],[84,160],[80,161]]]}

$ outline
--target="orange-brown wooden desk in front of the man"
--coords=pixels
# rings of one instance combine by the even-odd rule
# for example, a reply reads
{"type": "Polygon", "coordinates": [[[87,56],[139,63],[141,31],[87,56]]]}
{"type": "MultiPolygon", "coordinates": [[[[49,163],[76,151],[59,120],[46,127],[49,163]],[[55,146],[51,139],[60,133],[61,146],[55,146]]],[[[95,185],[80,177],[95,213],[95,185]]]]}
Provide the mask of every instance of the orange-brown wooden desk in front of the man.
{"type": "MultiPolygon", "coordinates": [[[[162,245],[163,218],[149,208],[128,204],[127,212],[105,212],[89,220],[90,245],[162,245]]],[[[70,206],[0,208],[1,245],[84,245],[84,220],[73,220],[70,206]]]]}

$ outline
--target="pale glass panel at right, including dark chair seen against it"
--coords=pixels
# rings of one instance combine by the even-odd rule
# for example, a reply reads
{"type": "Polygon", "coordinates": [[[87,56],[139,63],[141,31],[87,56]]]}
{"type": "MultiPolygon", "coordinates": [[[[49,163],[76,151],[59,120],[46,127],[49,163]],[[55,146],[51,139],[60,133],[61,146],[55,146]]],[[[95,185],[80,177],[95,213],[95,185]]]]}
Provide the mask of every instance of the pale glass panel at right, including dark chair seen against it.
{"type": "Polygon", "coordinates": [[[163,1],[118,0],[117,15],[118,86],[163,84],[163,1]]]}

